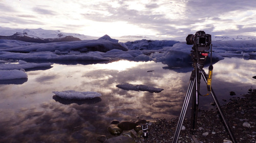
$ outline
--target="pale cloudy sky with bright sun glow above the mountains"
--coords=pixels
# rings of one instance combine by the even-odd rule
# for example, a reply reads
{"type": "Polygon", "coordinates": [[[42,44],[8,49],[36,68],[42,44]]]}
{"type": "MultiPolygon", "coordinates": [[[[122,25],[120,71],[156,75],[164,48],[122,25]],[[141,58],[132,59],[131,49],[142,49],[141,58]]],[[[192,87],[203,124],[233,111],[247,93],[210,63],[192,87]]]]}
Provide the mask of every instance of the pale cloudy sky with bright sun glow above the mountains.
{"type": "Polygon", "coordinates": [[[0,0],[0,26],[90,36],[256,36],[255,0],[0,0]]]}

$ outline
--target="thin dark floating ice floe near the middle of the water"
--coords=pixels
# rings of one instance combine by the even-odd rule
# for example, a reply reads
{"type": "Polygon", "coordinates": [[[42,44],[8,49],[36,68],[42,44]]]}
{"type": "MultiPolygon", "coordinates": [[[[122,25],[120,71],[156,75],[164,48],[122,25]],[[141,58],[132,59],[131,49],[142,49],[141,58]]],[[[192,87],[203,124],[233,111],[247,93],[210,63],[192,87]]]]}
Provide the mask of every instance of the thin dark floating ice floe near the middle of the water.
{"type": "Polygon", "coordinates": [[[130,83],[122,83],[116,85],[116,87],[123,89],[123,90],[131,90],[131,91],[147,91],[150,93],[159,93],[163,91],[163,89],[160,88],[154,88],[148,85],[142,85],[142,84],[130,84],[130,83]]]}

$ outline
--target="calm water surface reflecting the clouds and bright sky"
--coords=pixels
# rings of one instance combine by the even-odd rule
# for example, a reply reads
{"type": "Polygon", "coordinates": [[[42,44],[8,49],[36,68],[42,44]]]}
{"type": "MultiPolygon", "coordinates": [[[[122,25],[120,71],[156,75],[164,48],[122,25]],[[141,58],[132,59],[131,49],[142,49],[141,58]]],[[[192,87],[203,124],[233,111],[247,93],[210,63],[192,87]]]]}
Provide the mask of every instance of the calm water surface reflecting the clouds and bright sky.
{"type": "MultiPolygon", "coordinates": [[[[214,65],[212,87],[221,104],[230,91],[235,97],[255,88],[256,61],[224,59],[214,65]]],[[[118,61],[110,64],[59,65],[29,71],[23,84],[0,85],[0,142],[97,142],[98,135],[111,136],[110,121],[178,117],[190,71],[165,69],[155,62],[118,61]],[[147,72],[151,71],[151,72],[147,72]],[[161,93],[125,91],[120,83],[145,84],[161,93]],[[100,98],[63,101],[53,91],[93,91],[100,98]]],[[[208,67],[205,67],[206,73],[208,67]]],[[[201,82],[201,92],[206,85],[201,82]]],[[[212,106],[212,98],[200,97],[200,108],[212,106]]]]}

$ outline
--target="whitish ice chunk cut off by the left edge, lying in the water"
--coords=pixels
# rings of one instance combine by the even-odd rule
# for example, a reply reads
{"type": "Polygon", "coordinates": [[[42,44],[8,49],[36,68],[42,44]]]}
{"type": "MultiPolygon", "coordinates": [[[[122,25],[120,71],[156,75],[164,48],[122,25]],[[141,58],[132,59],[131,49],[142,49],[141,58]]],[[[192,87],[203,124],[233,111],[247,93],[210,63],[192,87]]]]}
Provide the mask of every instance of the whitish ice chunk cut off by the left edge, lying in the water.
{"type": "Polygon", "coordinates": [[[0,70],[0,80],[28,78],[28,75],[20,70],[0,70]]]}

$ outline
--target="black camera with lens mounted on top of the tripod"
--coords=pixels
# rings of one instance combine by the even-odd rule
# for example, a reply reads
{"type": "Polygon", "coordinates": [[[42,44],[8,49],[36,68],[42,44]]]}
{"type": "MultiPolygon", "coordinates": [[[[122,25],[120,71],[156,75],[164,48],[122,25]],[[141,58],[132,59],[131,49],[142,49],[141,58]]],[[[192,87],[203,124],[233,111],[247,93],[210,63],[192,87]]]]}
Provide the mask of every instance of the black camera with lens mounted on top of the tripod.
{"type": "Polygon", "coordinates": [[[198,31],[195,35],[189,34],[186,37],[188,45],[194,45],[193,50],[205,51],[210,49],[211,35],[205,34],[204,31],[198,31]]]}

